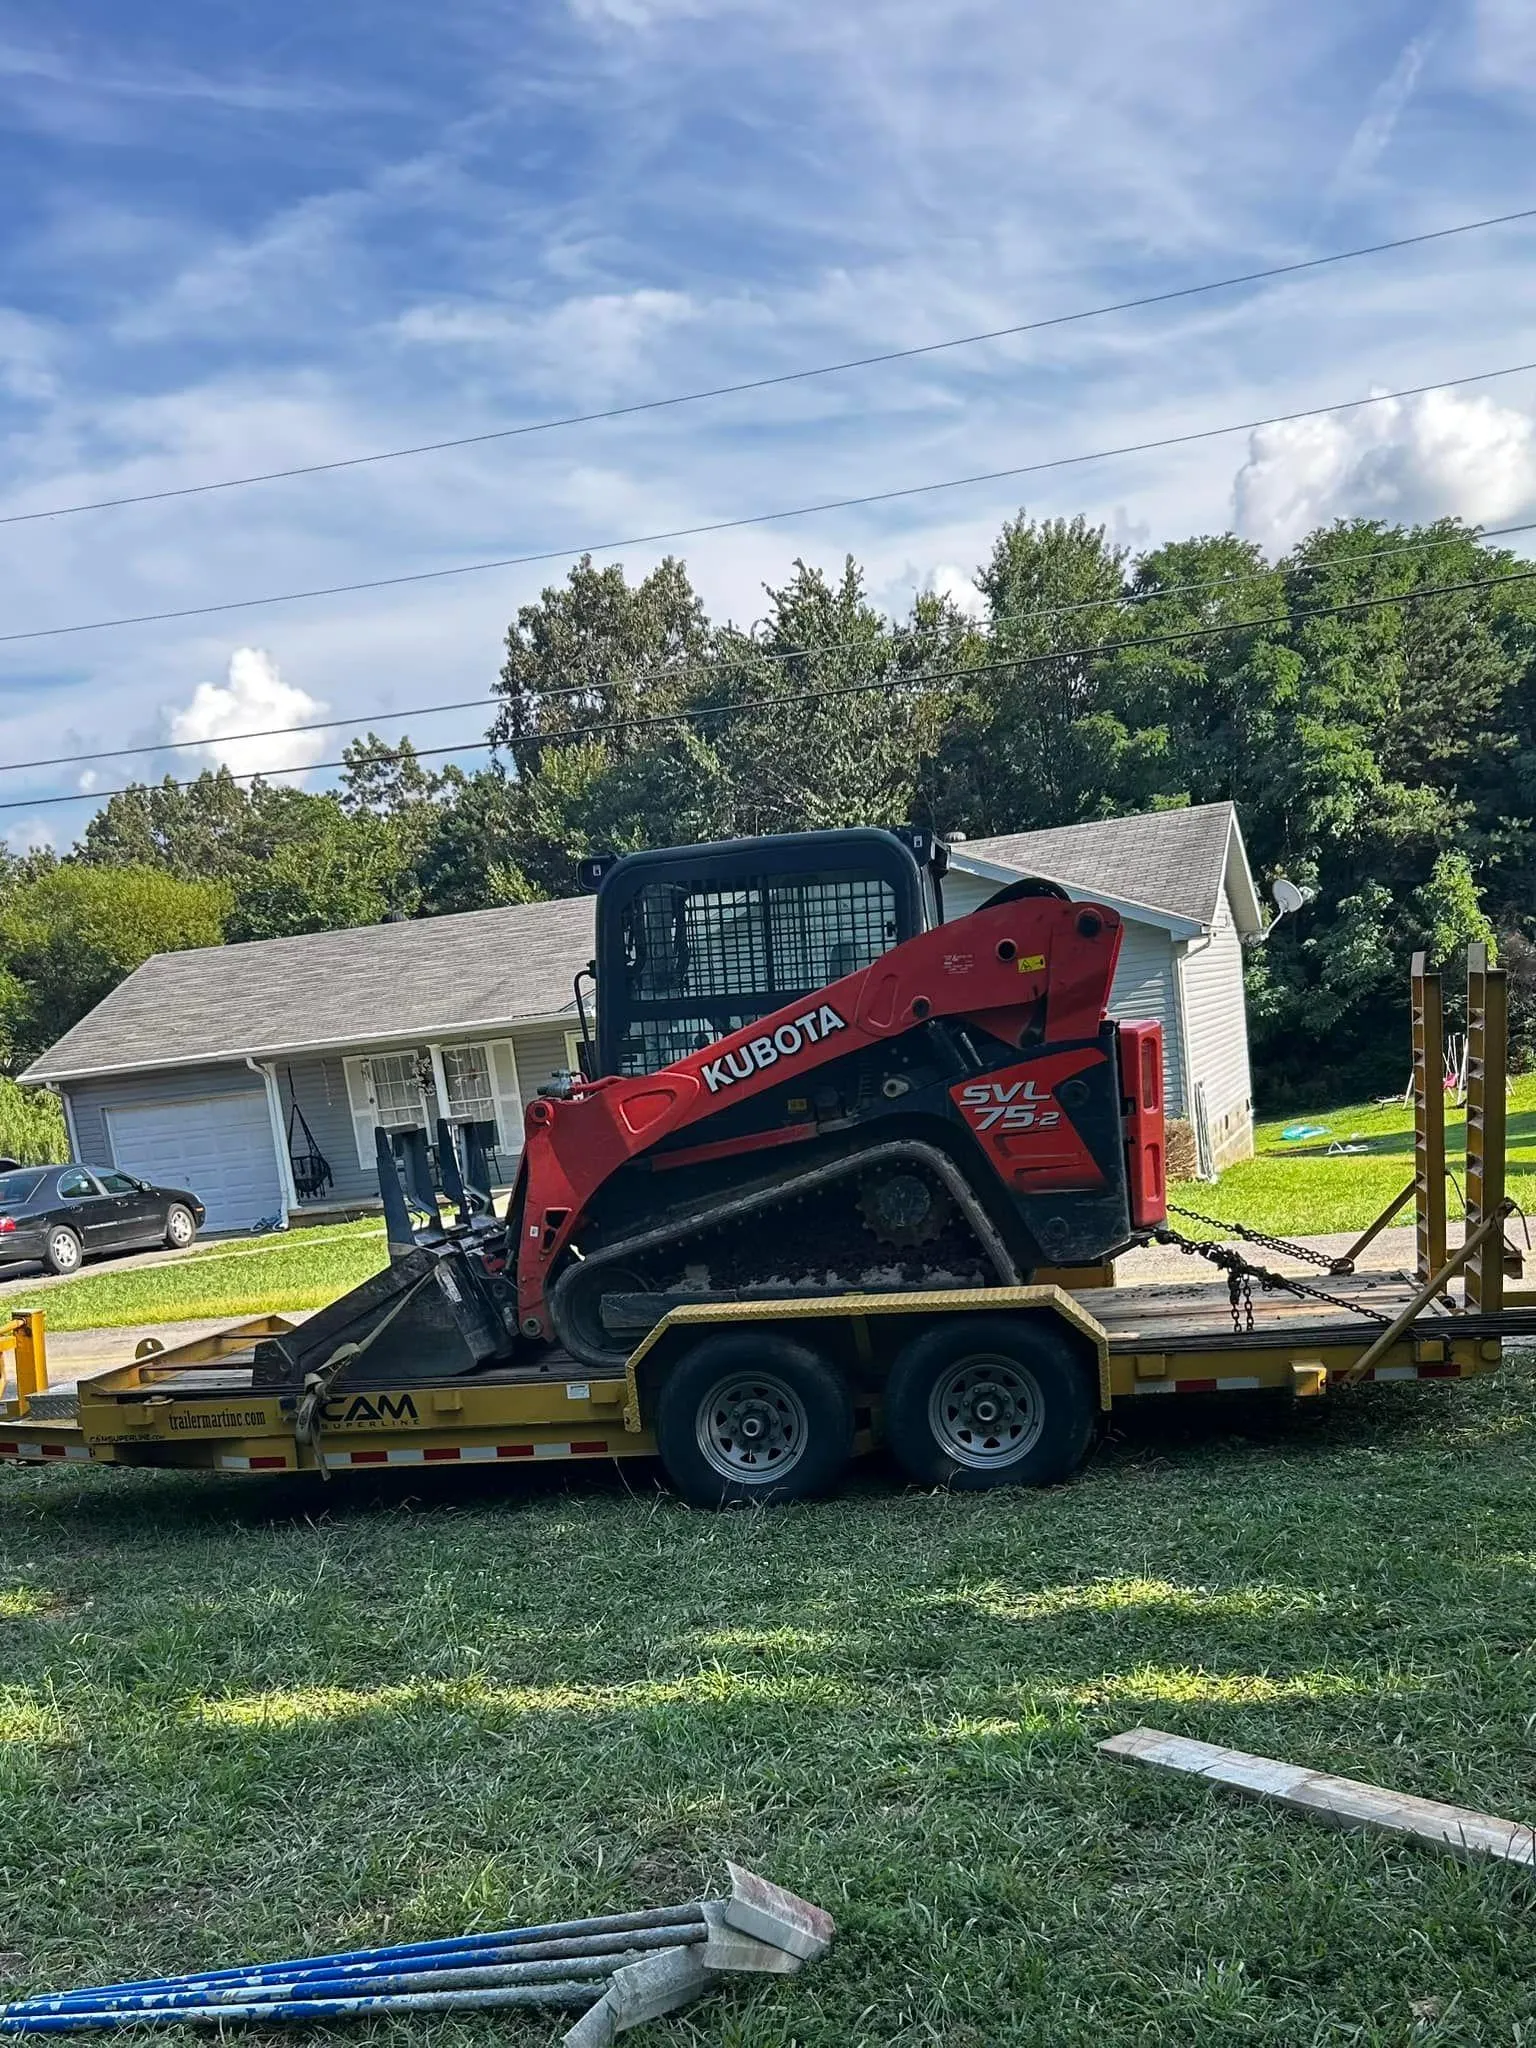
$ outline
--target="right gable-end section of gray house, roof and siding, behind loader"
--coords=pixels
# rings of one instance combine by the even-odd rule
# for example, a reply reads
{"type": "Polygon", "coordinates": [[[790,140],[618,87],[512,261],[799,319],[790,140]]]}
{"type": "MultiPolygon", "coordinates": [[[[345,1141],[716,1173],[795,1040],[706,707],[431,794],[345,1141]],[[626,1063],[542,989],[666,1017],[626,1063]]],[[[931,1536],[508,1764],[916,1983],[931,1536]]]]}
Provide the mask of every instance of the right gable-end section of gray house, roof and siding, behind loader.
{"type": "Polygon", "coordinates": [[[1110,1014],[1163,1026],[1167,1114],[1194,1126],[1202,1165],[1247,1159],[1243,946],[1262,934],[1264,911],[1235,807],[1202,803],[952,844],[944,915],[975,909],[1020,874],[1120,911],[1110,1014]]]}

